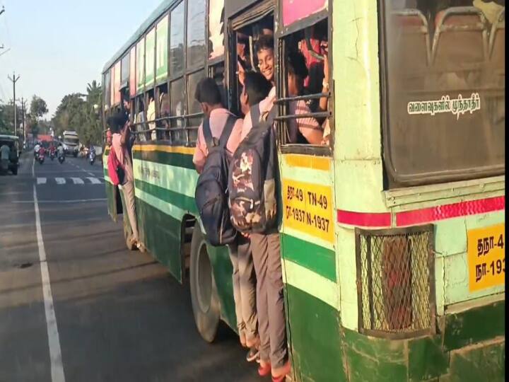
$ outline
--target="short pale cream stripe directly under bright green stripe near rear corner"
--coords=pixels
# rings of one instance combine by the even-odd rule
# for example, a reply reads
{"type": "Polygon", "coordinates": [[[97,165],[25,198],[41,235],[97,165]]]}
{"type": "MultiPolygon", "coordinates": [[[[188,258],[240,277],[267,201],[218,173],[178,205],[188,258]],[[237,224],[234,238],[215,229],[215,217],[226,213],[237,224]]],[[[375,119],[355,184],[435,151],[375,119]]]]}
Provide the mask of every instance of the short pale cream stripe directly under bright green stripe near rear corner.
{"type": "Polygon", "coordinates": [[[338,287],[335,282],[290,260],[281,260],[281,269],[283,282],[305,291],[339,311],[338,287]]]}

